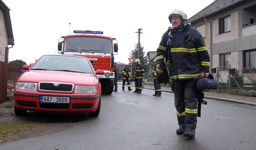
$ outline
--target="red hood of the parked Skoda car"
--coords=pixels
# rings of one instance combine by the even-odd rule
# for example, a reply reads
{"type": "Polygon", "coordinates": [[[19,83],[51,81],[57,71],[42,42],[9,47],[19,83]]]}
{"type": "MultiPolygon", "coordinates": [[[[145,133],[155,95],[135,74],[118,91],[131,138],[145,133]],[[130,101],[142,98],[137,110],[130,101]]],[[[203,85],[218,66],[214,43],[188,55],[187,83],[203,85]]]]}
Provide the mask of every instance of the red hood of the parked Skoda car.
{"type": "Polygon", "coordinates": [[[49,71],[49,70],[31,70],[23,73],[18,82],[62,82],[73,83],[75,85],[93,86],[95,75],[64,72],[64,71],[49,71]]]}

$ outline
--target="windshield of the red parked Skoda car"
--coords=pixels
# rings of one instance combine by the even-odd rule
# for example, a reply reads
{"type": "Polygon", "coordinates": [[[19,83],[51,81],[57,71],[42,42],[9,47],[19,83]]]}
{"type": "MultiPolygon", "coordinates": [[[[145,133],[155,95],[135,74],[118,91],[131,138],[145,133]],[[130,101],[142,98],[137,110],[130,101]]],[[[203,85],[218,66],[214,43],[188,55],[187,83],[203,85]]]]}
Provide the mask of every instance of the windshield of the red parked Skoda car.
{"type": "Polygon", "coordinates": [[[31,70],[54,70],[93,74],[92,67],[86,58],[64,55],[44,55],[36,62],[31,70]]]}

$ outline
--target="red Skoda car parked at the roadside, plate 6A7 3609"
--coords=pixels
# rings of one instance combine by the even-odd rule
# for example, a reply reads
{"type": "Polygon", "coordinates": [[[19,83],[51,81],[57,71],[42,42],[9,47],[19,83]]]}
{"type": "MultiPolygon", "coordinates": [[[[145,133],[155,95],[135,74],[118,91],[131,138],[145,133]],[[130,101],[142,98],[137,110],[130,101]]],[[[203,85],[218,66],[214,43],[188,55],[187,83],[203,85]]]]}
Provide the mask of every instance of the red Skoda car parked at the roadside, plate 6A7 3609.
{"type": "Polygon", "coordinates": [[[44,55],[20,75],[14,88],[15,114],[27,111],[100,113],[101,87],[89,59],[71,55],[44,55]]]}

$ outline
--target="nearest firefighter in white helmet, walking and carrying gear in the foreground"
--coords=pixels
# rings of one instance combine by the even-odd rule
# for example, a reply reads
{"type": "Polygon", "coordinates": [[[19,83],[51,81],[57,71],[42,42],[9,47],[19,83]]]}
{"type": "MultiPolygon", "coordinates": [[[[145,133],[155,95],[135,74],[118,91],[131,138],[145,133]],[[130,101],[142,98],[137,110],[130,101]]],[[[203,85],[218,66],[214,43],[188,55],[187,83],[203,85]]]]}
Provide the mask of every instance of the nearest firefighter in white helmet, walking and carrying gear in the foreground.
{"type": "Polygon", "coordinates": [[[169,20],[173,27],[170,49],[166,50],[169,39],[169,32],[166,31],[157,48],[156,70],[160,74],[163,72],[161,69],[164,66],[165,51],[170,51],[168,67],[174,83],[174,105],[180,126],[176,132],[193,138],[198,101],[193,83],[198,75],[208,77],[210,57],[202,35],[190,27],[185,12],[174,9],[169,15],[169,20]]]}

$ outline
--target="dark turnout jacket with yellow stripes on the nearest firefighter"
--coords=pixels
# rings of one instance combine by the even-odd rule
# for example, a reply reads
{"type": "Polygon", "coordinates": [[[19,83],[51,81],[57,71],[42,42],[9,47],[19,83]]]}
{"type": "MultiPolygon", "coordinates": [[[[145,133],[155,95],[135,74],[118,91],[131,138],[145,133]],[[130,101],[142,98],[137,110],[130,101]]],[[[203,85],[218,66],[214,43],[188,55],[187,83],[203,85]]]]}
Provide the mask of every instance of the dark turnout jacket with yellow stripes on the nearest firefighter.
{"type": "MultiPolygon", "coordinates": [[[[166,31],[157,48],[156,64],[164,65],[169,32],[166,31]]],[[[170,76],[172,80],[195,79],[201,72],[209,73],[210,57],[202,35],[186,25],[182,31],[172,30],[170,76]]]]}

